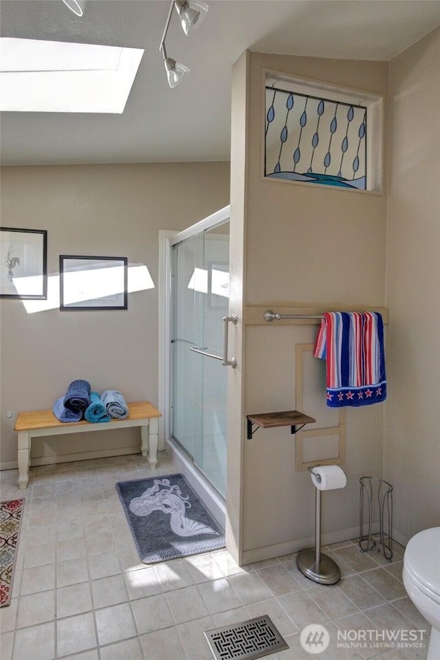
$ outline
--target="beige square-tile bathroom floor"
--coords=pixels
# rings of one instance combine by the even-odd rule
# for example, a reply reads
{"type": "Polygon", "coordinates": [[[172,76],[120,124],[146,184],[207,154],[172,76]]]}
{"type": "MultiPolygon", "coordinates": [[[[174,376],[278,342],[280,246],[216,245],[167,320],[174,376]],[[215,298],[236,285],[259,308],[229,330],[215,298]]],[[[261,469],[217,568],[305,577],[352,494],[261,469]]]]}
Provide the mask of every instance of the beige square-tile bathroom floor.
{"type": "MultiPolygon", "coordinates": [[[[155,474],[173,470],[161,452],[155,474]]],[[[326,547],[342,573],[335,586],[307,580],[295,554],[241,568],[226,550],[142,564],[115,483],[151,474],[140,454],[31,468],[23,491],[17,470],[0,473],[2,500],[26,498],[2,660],[210,660],[203,630],[263,614],[289,644],[267,658],[426,658],[426,648],[337,646],[337,630],[429,630],[406,596],[398,545],[391,564],[351,540],[326,547]],[[325,652],[300,645],[312,622],[329,631],[325,652]]]]}

